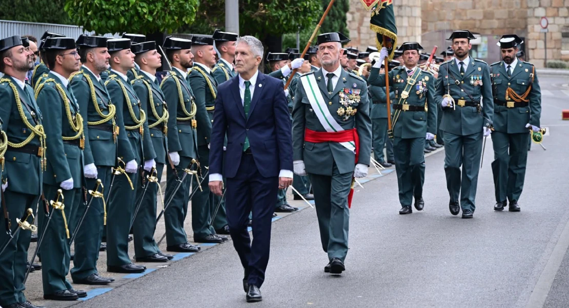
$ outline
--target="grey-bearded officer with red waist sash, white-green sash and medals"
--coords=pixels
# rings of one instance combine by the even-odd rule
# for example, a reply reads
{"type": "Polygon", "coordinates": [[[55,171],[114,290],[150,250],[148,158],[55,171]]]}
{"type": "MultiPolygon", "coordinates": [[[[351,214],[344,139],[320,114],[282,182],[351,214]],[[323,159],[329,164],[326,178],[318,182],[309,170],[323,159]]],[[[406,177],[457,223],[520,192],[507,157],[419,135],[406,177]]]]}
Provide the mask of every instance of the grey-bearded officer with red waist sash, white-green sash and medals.
{"type": "Polygon", "coordinates": [[[345,270],[348,195],[353,178],[367,175],[372,151],[368,87],[341,68],[345,42],[349,39],[339,32],[318,36],[322,68],[299,77],[292,110],[294,173],[310,177],[320,240],[328,253],[324,272],[332,274],[345,270]]]}

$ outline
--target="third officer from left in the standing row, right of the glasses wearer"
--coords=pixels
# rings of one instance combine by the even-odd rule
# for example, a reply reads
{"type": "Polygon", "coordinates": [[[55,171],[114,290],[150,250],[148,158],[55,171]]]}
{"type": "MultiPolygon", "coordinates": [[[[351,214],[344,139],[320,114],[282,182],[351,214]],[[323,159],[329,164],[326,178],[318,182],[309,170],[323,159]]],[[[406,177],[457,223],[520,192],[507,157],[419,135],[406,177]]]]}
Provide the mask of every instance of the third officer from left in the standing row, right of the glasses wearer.
{"type": "MultiPolygon", "coordinates": [[[[111,168],[116,165],[117,142],[128,142],[124,125],[117,122],[117,108],[100,77],[110,59],[106,41],[102,36],[79,36],[76,45],[83,65],[71,79],[73,95],[83,117],[86,188],[94,191],[97,179],[100,179],[105,200],[110,190],[111,168]]],[[[136,161],[133,158],[127,164],[132,167],[136,161]]],[[[101,188],[98,190],[101,192],[101,188]]],[[[88,202],[91,198],[89,195],[88,202]]],[[[75,211],[75,221],[83,217],[85,210],[86,204],[81,203],[75,211]]],[[[106,204],[101,198],[94,198],[75,237],[75,267],[71,270],[71,278],[76,284],[104,285],[112,282],[99,276],[97,270],[106,215],[106,204]]]]}

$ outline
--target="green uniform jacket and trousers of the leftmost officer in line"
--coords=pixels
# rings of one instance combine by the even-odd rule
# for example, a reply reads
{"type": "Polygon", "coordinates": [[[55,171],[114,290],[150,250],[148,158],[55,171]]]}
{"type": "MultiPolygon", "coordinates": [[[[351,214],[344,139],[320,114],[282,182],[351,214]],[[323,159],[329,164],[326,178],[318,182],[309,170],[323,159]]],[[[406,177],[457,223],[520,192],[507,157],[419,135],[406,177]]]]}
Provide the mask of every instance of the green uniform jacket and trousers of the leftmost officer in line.
{"type": "MultiPolygon", "coordinates": [[[[34,135],[24,146],[29,151],[24,152],[24,147],[15,148],[9,143],[4,155],[2,178],[8,181],[8,187],[3,199],[14,232],[18,226],[16,219],[22,217],[28,208],[35,208],[43,189],[42,155],[38,155],[41,154],[38,151],[43,147],[45,134],[39,126],[43,121],[42,113],[30,85],[24,84],[22,89],[9,75],[0,79],[0,118],[2,130],[6,132],[11,144],[17,145],[34,135]]],[[[0,229],[6,229],[3,219],[0,221],[0,229]]],[[[23,280],[30,237],[30,231],[18,232],[0,255],[0,306],[26,301],[23,280]]],[[[0,243],[6,243],[8,239],[6,232],[0,232],[0,243]]]]}

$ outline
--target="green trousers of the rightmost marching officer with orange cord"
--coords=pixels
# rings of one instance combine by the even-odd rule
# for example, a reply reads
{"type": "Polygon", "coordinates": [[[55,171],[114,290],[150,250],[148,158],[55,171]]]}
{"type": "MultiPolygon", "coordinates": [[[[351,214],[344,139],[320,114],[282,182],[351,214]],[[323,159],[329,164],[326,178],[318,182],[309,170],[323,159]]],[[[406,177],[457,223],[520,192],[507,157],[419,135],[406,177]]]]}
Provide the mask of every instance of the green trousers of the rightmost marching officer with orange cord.
{"type": "Polygon", "coordinates": [[[494,147],[492,174],[496,202],[504,202],[506,198],[510,202],[517,201],[522,194],[523,180],[526,176],[527,139],[530,139],[529,133],[492,132],[494,147]]]}

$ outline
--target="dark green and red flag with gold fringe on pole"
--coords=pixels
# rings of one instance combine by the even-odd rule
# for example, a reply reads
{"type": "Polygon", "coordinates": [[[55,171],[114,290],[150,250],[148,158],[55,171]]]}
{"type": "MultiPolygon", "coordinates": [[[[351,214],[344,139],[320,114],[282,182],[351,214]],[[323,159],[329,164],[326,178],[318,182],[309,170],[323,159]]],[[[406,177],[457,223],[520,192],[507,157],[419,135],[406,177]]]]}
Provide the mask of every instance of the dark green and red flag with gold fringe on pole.
{"type": "Polygon", "coordinates": [[[377,33],[377,48],[385,46],[384,36],[391,39],[393,46],[389,59],[393,59],[393,53],[397,47],[397,26],[395,25],[395,14],[393,12],[393,0],[360,0],[365,9],[370,11],[369,28],[377,33]]]}

